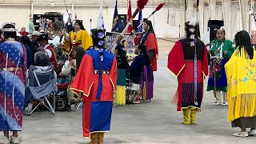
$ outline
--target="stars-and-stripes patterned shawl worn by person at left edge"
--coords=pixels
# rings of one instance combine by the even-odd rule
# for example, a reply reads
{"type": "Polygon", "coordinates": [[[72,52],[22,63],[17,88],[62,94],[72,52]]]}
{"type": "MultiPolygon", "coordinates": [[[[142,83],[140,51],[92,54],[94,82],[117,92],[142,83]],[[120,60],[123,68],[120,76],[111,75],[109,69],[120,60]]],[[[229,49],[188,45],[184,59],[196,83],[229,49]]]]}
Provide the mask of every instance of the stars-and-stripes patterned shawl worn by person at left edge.
{"type": "Polygon", "coordinates": [[[26,49],[19,42],[0,44],[0,130],[22,130],[26,49]],[[18,67],[17,71],[2,68],[18,67]]]}

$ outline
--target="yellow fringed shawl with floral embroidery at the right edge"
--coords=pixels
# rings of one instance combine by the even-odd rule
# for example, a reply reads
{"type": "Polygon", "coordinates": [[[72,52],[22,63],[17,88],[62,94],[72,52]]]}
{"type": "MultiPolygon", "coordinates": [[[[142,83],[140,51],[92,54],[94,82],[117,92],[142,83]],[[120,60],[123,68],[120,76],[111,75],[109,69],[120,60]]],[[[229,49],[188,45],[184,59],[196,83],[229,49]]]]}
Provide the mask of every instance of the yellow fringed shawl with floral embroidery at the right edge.
{"type": "MultiPolygon", "coordinates": [[[[228,120],[255,118],[256,116],[256,52],[250,59],[237,49],[225,65],[227,78],[227,97],[229,103],[228,120]]],[[[233,125],[233,123],[232,123],[233,125]]]]}

